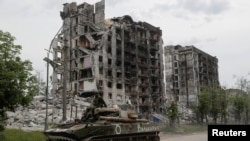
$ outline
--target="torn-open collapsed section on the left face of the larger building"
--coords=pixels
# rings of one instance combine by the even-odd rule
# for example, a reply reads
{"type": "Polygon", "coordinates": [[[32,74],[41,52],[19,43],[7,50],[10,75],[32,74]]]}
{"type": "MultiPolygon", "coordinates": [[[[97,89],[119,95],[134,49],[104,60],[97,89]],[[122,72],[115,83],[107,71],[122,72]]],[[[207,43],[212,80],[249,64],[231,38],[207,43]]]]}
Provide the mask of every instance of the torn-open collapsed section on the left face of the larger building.
{"type": "Polygon", "coordinates": [[[104,34],[105,32],[87,32],[72,39],[70,53],[71,89],[83,97],[100,91],[97,84],[102,83],[97,76],[103,71],[100,71],[98,66],[103,67],[103,63],[100,62],[101,57],[97,50],[102,48],[101,42],[104,34]]]}

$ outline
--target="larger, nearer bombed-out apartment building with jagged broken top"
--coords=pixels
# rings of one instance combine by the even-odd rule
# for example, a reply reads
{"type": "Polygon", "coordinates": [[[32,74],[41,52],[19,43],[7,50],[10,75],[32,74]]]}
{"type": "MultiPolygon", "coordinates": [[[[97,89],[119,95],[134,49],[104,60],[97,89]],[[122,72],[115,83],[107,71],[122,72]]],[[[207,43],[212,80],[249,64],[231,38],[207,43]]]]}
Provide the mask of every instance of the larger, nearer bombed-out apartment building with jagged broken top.
{"type": "Polygon", "coordinates": [[[52,47],[54,93],[98,92],[107,104],[131,102],[146,118],[163,112],[162,31],[128,15],[105,19],[104,9],[104,0],[64,4],[52,47]]]}

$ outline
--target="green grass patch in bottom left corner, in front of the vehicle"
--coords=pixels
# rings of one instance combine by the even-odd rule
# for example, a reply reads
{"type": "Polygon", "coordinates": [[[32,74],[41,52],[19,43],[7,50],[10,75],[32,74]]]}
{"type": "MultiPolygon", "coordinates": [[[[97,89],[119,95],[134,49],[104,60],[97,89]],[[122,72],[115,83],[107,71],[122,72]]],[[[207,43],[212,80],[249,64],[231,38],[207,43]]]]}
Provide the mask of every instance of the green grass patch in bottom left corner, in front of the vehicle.
{"type": "Polygon", "coordinates": [[[45,141],[41,131],[23,131],[20,129],[6,129],[0,134],[0,141],[45,141]]]}

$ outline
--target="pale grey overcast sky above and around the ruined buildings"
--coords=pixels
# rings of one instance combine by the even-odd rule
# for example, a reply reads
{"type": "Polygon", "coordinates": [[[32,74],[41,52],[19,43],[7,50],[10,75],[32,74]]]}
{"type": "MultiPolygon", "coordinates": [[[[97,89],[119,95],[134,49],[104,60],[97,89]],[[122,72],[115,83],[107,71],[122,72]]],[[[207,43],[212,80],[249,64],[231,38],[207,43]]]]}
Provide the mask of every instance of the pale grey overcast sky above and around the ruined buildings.
{"type": "MultiPolygon", "coordinates": [[[[22,57],[45,78],[45,49],[62,26],[63,3],[99,0],[0,0],[0,30],[16,37],[22,57]]],[[[106,0],[105,18],[130,15],[163,31],[164,46],[194,45],[219,60],[220,83],[249,78],[249,0],[106,0]],[[236,78],[234,77],[236,76],[236,78]]]]}

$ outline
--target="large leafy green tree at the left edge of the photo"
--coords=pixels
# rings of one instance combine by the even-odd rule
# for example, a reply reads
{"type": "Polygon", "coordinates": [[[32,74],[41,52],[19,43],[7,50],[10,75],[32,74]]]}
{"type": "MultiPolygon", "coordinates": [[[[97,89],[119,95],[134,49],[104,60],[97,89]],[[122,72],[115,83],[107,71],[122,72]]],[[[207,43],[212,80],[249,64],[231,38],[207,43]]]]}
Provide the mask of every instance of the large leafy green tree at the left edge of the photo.
{"type": "Polygon", "coordinates": [[[32,63],[19,57],[22,47],[14,40],[9,32],[0,30],[0,129],[7,118],[6,111],[28,105],[37,92],[32,63]]]}

